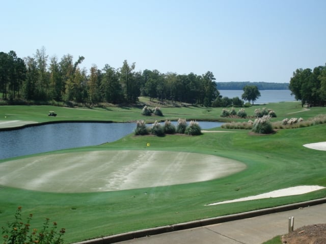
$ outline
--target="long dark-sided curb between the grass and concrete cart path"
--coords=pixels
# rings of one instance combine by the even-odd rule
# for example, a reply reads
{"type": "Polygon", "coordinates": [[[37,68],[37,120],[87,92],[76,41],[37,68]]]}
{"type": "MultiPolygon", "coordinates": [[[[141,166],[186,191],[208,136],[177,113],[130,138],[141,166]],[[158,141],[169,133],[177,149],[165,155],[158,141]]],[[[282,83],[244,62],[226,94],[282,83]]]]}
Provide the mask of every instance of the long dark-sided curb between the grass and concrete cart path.
{"type": "Polygon", "coordinates": [[[252,218],[252,217],[257,217],[262,215],[274,214],[276,212],[293,210],[300,207],[309,207],[309,206],[323,204],[323,203],[326,203],[326,198],[320,198],[320,199],[306,201],[306,202],[293,203],[293,204],[288,204],[288,205],[283,205],[278,207],[264,208],[260,210],[249,211],[249,212],[241,212],[239,214],[234,214],[234,215],[227,215],[227,216],[209,218],[204,220],[196,220],[196,221],[180,223],[175,225],[131,231],[131,232],[117,234],[117,235],[104,236],[101,238],[75,242],[72,244],[110,244],[110,243],[126,241],[135,238],[150,236],[150,235],[157,235],[157,234],[168,233],[172,231],[185,230],[185,229],[202,227],[206,225],[213,225],[213,224],[219,224],[219,223],[224,223],[224,222],[229,222],[234,220],[241,220],[241,219],[247,219],[247,218],[252,218]]]}

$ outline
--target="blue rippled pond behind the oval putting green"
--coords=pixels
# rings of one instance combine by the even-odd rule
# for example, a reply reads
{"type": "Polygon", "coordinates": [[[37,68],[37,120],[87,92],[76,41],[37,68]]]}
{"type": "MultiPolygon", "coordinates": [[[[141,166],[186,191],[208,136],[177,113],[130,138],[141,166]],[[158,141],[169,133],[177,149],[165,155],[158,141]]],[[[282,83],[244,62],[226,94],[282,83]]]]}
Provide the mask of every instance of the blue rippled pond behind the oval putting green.
{"type": "MultiPolygon", "coordinates": [[[[199,122],[202,129],[222,124],[199,122]]],[[[0,131],[0,159],[112,142],[132,133],[134,128],[134,123],[60,123],[0,131]]]]}

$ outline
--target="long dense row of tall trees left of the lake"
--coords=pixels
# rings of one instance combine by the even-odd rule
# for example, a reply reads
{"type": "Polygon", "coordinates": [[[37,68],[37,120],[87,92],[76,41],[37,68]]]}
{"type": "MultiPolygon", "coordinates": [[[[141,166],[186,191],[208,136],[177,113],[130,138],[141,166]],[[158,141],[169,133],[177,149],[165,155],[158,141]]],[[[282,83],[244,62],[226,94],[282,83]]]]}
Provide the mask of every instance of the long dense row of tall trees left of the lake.
{"type": "Polygon", "coordinates": [[[179,75],[157,70],[135,71],[135,63],[80,68],[84,56],[49,58],[45,48],[20,58],[0,52],[0,93],[3,100],[62,101],[83,104],[134,103],[139,96],[211,106],[219,96],[212,72],[179,75]]]}

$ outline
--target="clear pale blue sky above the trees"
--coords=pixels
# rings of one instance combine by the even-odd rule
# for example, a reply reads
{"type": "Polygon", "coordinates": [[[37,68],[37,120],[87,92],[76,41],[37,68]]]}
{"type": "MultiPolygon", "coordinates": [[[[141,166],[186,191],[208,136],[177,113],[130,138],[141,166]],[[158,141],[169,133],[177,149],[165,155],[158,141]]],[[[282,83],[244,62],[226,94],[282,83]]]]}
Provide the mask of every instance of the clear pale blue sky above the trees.
{"type": "Polygon", "coordinates": [[[326,63],[325,0],[0,0],[0,51],[71,54],[105,64],[289,82],[326,63]]]}

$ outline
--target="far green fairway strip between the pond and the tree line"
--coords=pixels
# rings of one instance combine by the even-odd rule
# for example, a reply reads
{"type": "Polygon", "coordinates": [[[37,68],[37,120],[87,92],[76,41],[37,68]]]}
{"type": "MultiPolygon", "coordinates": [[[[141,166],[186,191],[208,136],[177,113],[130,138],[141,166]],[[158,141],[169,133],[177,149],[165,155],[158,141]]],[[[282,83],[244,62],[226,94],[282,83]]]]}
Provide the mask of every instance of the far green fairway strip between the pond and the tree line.
{"type": "MultiPolygon", "coordinates": [[[[151,108],[155,107],[151,106],[151,108]]],[[[283,102],[271,103],[267,105],[253,106],[246,108],[248,115],[253,115],[257,108],[266,107],[267,109],[275,110],[277,118],[291,117],[313,117],[317,114],[325,113],[325,108],[313,107],[309,111],[302,111],[300,102],[283,102]],[[293,113],[298,112],[298,113],[293,113]],[[289,114],[290,113],[290,114],[289,114]],[[293,113],[293,114],[291,114],[293,113]]],[[[0,106],[0,122],[6,120],[28,120],[37,122],[60,121],[60,120],[104,120],[115,122],[126,122],[130,120],[145,119],[148,122],[158,120],[177,120],[178,118],[198,119],[198,120],[230,120],[220,117],[222,108],[204,108],[204,107],[161,107],[164,117],[159,116],[143,116],[141,115],[141,107],[108,107],[104,108],[85,108],[85,109],[71,109],[65,107],[55,106],[0,106]],[[58,116],[47,116],[48,111],[54,110],[58,116]],[[6,118],[5,118],[6,116],[6,118]]],[[[237,108],[235,108],[238,111],[237,108]]],[[[248,119],[237,119],[238,121],[247,121],[248,119]]]]}

